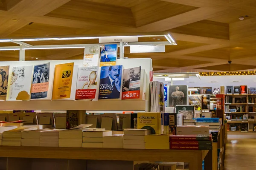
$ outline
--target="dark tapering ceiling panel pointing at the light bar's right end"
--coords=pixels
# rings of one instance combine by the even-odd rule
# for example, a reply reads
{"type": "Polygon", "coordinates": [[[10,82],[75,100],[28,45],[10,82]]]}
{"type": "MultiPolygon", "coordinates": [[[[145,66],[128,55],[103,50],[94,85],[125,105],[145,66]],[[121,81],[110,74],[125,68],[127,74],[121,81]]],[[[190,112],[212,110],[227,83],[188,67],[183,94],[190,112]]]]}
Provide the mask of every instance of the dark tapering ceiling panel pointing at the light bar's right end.
{"type": "Polygon", "coordinates": [[[185,26],[173,28],[168,31],[179,34],[229,40],[229,24],[208,20],[201,20],[185,26]]]}

